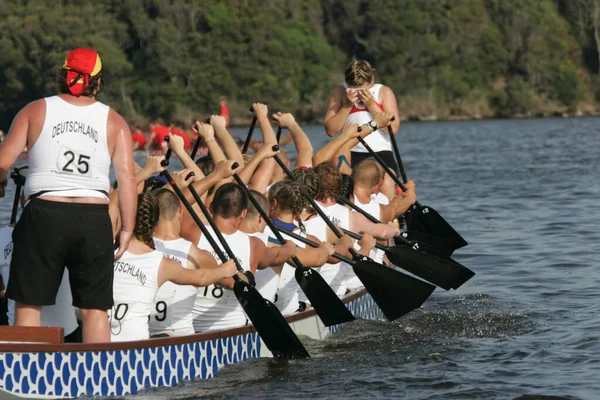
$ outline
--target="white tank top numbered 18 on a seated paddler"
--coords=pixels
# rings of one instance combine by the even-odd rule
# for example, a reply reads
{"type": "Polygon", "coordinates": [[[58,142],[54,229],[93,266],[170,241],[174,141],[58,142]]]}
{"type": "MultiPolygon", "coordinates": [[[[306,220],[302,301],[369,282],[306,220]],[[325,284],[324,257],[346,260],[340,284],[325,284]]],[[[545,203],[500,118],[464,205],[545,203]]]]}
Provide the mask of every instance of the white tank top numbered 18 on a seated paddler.
{"type": "MultiPolygon", "coordinates": [[[[212,229],[207,228],[219,247],[223,249],[212,229]]],[[[242,269],[250,271],[250,236],[242,231],[237,231],[232,235],[223,234],[223,237],[233,250],[242,269]]],[[[221,264],[221,259],[204,235],[200,237],[198,248],[211,253],[217,263],[221,264]]],[[[223,252],[225,253],[225,251],[223,252]]],[[[246,313],[233,290],[224,289],[218,285],[198,288],[198,296],[194,304],[194,330],[196,332],[234,328],[244,326],[246,323],[246,313]]]]}

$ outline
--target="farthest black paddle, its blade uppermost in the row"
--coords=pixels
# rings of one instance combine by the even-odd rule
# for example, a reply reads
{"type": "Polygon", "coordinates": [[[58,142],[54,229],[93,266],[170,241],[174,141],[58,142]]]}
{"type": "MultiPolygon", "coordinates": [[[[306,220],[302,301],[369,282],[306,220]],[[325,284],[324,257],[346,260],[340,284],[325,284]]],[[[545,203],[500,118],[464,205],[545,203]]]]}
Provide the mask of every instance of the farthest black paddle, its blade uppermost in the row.
{"type": "MultiPolygon", "coordinates": [[[[358,127],[358,130],[360,131],[361,127],[358,127]]],[[[363,146],[365,146],[371,157],[374,157],[377,162],[379,162],[384,171],[387,172],[396,185],[398,185],[403,191],[406,191],[406,186],[400,182],[396,175],[392,173],[390,168],[385,164],[381,157],[375,153],[373,149],[371,149],[365,140],[360,136],[357,139],[363,146]]],[[[409,230],[425,232],[452,240],[455,242],[455,249],[459,249],[468,244],[436,210],[429,206],[422,206],[418,202],[415,202],[415,204],[411,206],[405,215],[407,220],[407,228],[409,230]]]]}

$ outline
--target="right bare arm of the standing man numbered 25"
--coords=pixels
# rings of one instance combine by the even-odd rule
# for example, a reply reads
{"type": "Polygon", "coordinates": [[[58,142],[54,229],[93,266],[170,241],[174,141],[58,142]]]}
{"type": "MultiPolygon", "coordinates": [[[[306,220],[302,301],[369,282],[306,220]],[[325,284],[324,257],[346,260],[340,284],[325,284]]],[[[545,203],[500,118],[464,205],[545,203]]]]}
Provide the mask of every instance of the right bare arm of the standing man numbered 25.
{"type": "Polygon", "coordinates": [[[112,162],[119,183],[119,213],[121,216],[121,234],[119,251],[115,259],[127,250],[129,239],[135,226],[137,210],[137,184],[133,167],[133,150],[129,126],[119,114],[110,110],[108,117],[108,132],[115,137],[112,162]]]}

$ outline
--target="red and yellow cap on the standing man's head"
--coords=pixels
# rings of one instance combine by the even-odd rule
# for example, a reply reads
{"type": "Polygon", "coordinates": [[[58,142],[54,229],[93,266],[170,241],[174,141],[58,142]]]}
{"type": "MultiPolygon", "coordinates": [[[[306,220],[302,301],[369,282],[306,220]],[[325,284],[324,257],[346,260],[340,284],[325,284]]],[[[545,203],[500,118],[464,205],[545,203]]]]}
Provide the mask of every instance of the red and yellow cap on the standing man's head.
{"type": "Polygon", "coordinates": [[[63,68],[68,71],[69,91],[73,96],[79,97],[88,87],[90,76],[96,76],[102,71],[102,60],[96,50],[77,48],[67,55],[63,68]]]}

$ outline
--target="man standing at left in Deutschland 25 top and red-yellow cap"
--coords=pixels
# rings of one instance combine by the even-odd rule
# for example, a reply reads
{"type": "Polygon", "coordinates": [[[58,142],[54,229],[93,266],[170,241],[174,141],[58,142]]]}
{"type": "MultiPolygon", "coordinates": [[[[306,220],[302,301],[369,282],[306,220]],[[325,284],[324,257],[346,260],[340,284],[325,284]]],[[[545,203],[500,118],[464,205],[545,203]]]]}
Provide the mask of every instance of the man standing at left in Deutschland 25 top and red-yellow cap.
{"type": "Polygon", "coordinates": [[[0,147],[0,186],[29,148],[27,204],[13,232],[7,296],[16,302],[15,325],[39,326],[40,309],[54,304],[66,266],[83,341],[108,342],[113,260],[127,249],[137,207],[131,132],[119,114],[96,101],[103,85],[96,51],[71,51],[58,84],[58,96],[17,114],[0,147]],[[111,161],[122,226],[116,255],[108,215],[111,161]]]}

